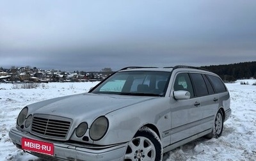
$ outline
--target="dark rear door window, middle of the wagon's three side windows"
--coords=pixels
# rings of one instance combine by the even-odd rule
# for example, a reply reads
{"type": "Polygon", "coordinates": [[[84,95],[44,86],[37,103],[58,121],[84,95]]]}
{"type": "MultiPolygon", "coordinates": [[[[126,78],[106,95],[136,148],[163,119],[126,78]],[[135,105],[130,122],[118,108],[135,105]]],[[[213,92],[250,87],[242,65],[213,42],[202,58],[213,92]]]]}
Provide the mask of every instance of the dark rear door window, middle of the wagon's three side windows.
{"type": "Polygon", "coordinates": [[[195,85],[196,96],[205,96],[208,95],[208,90],[204,81],[202,74],[200,73],[191,73],[191,79],[195,85]]]}

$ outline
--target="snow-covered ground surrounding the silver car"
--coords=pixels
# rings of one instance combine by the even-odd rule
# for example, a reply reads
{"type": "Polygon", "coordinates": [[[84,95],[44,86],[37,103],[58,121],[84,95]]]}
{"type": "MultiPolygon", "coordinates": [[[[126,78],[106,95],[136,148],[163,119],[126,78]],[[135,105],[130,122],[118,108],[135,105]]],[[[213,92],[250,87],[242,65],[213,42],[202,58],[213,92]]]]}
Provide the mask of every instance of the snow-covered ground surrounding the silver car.
{"type": "MultiPolygon", "coordinates": [[[[256,160],[256,80],[227,84],[231,96],[232,116],[225,122],[218,139],[200,138],[164,155],[170,160],[256,160]]],[[[98,82],[49,83],[36,89],[15,89],[20,85],[0,84],[0,161],[40,161],[18,150],[10,141],[8,131],[15,126],[20,110],[28,104],[87,92],[98,82]]]]}

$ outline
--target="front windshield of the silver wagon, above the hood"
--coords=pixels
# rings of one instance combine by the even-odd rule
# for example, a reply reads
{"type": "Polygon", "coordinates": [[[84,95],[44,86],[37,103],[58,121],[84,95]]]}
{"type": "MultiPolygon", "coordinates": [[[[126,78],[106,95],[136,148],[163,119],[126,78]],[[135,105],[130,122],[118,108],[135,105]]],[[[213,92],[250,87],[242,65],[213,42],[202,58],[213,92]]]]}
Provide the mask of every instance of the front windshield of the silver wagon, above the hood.
{"type": "Polygon", "coordinates": [[[117,72],[97,86],[91,93],[164,96],[170,72],[126,71],[117,72]]]}

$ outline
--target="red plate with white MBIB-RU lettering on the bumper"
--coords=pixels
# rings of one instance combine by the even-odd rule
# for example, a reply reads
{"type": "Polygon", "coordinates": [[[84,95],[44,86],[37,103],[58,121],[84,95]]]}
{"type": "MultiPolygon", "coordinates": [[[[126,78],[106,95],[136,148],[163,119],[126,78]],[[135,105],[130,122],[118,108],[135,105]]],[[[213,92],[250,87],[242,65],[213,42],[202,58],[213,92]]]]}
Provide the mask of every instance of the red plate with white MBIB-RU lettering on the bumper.
{"type": "Polygon", "coordinates": [[[34,151],[45,155],[54,155],[54,144],[44,141],[36,141],[22,137],[21,139],[22,150],[34,151]]]}

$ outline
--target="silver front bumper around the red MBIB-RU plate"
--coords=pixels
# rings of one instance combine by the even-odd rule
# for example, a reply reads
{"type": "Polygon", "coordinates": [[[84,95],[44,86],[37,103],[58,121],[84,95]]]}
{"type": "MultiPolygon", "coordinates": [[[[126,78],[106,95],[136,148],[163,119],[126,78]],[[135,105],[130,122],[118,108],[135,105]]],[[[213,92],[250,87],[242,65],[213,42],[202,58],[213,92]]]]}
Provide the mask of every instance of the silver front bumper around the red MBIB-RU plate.
{"type": "Polygon", "coordinates": [[[99,161],[117,161],[124,160],[125,151],[127,149],[127,144],[116,144],[113,146],[102,146],[102,147],[93,147],[93,146],[84,146],[83,144],[70,144],[63,143],[59,141],[49,141],[42,139],[40,137],[35,137],[34,135],[29,134],[28,132],[21,132],[17,128],[13,127],[9,132],[9,137],[12,139],[13,144],[18,148],[21,148],[21,139],[26,137],[28,139],[35,139],[38,141],[51,142],[54,144],[54,156],[43,155],[40,153],[30,152],[29,153],[36,155],[37,157],[49,158],[51,160],[99,160],[99,161]]]}

